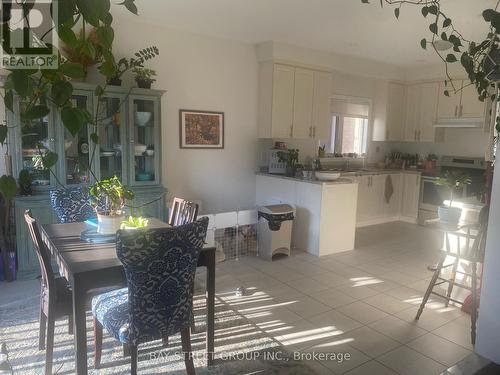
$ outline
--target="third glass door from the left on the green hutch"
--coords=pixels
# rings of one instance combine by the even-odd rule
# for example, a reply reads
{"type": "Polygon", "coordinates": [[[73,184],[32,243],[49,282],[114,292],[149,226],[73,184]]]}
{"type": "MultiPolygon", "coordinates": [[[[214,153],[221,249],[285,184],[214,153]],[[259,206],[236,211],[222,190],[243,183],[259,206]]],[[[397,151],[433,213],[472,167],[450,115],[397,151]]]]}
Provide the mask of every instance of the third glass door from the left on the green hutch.
{"type": "MultiPolygon", "coordinates": [[[[126,181],[123,168],[123,97],[102,97],[97,105],[97,134],[99,136],[100,178],[117,176],[126,181]]],[[[125,151],[126,152],[126,151],[125,151]]]]}

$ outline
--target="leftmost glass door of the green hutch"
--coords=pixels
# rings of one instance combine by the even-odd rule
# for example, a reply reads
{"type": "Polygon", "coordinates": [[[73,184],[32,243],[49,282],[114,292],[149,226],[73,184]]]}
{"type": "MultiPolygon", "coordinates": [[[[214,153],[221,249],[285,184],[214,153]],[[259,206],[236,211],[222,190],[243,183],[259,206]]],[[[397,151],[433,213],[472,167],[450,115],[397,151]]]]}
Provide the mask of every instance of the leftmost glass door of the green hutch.
{"type": "MultiPolygon", "coordinates": [[[[20,113],[24,113],[24,104],[19,103],[19,106],[20,113]]],[[[48,186],[54,182],[50,171],[44,168],[41,156],[47,150],[55,151],[50,122],[50,114],[41,119],[21,121],[21,168],[29,172],[33,186],[48,186]]]]}

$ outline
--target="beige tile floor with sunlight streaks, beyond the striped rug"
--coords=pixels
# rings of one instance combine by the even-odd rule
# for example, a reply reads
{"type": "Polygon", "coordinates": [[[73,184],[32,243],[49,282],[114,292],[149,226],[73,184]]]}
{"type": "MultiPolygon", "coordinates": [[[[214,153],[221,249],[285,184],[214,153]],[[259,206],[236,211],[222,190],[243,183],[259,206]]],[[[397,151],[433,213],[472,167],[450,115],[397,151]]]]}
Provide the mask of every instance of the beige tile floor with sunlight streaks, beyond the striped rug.
{"type": "Polygon", "coordinates": [[[356,249],[218,265],[217,293],[289,350],[350,353],[324,374],[439,374],[471,353],[470,320],[432,298],[414,321],[442,235],[407,223],[361,228],[356,249]],[[247,295],[234,289],[245,286],[247,295]]]}

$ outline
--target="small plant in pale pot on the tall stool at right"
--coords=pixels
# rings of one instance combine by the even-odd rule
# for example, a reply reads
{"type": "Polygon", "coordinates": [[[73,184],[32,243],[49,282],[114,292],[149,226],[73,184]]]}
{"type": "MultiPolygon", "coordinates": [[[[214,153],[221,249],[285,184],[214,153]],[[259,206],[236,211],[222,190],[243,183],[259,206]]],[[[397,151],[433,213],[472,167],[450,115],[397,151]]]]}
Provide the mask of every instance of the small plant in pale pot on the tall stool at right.
{"type": "Polygon", "coordinates": [[[471,182],[468,175],[455,171],[447,171],[444,176],[438,177],[434,181],[436,185],[446,186],[450,191],[449,204],[445,205],[443,202],[438,207],[438,216],[443,223],[458,224],[462,215],[462,209],[460,207],[453,207],[453,196],[455,191],[463,189],[466,185],[470,185],[471,182]]]}

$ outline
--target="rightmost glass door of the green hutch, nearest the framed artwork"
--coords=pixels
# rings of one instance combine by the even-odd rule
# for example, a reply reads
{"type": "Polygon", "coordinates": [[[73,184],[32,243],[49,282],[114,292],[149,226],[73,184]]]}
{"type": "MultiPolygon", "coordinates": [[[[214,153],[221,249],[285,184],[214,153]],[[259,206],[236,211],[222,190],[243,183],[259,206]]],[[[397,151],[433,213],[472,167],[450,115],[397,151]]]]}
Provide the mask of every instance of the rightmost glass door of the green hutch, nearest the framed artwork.
{"type": "Polygon", "coordinates": [[[133,185],[159,183],[159,102],[156,98],[130,100],[130,180],[133,185]]]}

